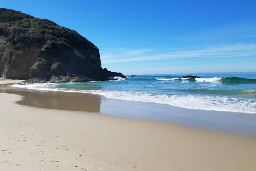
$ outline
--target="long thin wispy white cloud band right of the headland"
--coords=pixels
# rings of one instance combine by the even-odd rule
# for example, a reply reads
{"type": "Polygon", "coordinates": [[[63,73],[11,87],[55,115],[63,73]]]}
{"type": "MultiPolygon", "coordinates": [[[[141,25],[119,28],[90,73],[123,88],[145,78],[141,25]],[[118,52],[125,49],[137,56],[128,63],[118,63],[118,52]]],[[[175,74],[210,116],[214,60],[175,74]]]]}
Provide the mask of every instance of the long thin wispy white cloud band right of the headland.
{"type": "Polygon", "coordinates": [[[192,58],[192,57],[244,57],[256,56],[256,44],[234,44],[209,46],[203,49],[196,50],[180,50],[165,53],[147,54],[153,51],[152,49],[116,50],[112,53],[103,53],[101,55],[102,63],[117,63],[143,60],[163,60],[174,58],[192,58]],[[118,53],[118,51],[120,53],[118,53]]]}

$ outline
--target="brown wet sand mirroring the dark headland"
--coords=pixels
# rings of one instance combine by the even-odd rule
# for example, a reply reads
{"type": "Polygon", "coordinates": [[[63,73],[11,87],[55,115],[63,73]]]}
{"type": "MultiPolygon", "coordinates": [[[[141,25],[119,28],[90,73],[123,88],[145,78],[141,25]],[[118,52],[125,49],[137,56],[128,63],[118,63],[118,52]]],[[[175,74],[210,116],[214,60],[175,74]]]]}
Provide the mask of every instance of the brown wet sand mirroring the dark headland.
{"type": "Polygon", "coordinates": [[[45,109],[68,111],[100,112],[101,98],[86,93],[67,93],[55,91],[35,91],[6,87],[11,84],[0,84],[0,92],[22,96],[17,104],[45,109]]]}

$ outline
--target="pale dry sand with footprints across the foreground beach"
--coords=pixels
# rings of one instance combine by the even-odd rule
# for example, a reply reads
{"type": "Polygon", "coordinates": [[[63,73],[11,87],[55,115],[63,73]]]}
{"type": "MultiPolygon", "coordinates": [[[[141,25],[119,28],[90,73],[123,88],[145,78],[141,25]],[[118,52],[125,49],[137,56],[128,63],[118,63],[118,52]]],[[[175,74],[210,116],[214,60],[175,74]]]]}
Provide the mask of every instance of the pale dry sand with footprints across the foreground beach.
{"type": "Polygon", "coordinates": [[[252,137],[15,103],[22,100],[0,93],[1,171],[256,170],[252,137]]]}

